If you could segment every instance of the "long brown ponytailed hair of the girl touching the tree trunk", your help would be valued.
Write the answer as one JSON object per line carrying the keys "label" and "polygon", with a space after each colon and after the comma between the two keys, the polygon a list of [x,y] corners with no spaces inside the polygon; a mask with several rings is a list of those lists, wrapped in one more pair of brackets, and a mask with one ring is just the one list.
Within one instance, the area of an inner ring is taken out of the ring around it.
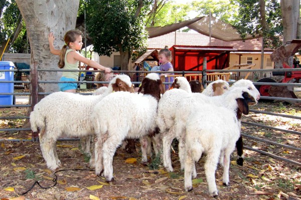
{"label": "long brown ponytailed hair of the girl touching the tree trunk", "polygon": [[82,32],[79,30],[70,30],[64,36],[65,45],[61,49],[60,61],[58,63],[59,68],[63,68],[65,66],[65,54],[67,48],[69,47],[69,43],[75,42],[78,36],[81,36]]}

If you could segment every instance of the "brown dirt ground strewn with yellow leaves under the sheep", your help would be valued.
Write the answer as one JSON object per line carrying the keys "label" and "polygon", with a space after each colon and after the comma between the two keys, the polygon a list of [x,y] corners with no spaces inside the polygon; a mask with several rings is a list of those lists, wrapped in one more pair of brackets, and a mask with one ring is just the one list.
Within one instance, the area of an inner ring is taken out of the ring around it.
{"label": "brown dirt ground strewn with yellow leaves under the sheep", "polygon": [[[300,98],[300,97],[299,97]],[[251,109],[301,116],[299,105],[282,102],[258,103]],[[0,116],[25,115],[26,109],[2,108]],[[250,113],[243,121],[301,132],[300,120]],[[0,127],[22,127],[24,120],[0,120]],[[242,133],[301,148],[299,135],[242,126]],[[0,139],[30,137],[30,132],[0,132]],[[301,162],[300,151],[244,138],[244,145]],[[0,199],[214,199],[207,193],[205,157],[196,164],[198,177],[194,189],[184,190],[184,172],[180,170],[177,147],[172,151],[175,171],[167,172],[157,159],[143,165],[140,146],[133,153],[118,149],[113,161],[115,181],[106,183],[89,168],[88,157],[80,151],[79,141],[57,142],[61,171],[48,170],[38,142],[0,141]],[[301,167],[254,151],[244,150],[243,166],[236,164],[236,151],[230,165],[230,186],[223,186],[223,169],[218,166],[217,199],[300,199]],[[154,168],[155,167],[155,168]],[[158,168],[157,168],[158,167]],[[57,176],[57,184],[53,178]],[[42,187],[36,184],[38,181]],[[29,190],[29,191],[28,191]],[[28,191],[26,194],[22,194]]]}

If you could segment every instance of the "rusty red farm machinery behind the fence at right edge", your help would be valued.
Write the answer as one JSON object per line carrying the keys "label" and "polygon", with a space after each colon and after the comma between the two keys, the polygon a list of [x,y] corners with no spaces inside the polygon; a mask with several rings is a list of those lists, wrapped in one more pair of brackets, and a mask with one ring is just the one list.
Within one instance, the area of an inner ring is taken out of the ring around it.
{"label": "rusty red farm machinery behind the fence at right edge", "polygon": [[[301,47],[301,40],[292,40],[290,44],[277,48],[271,55],[271,60],[274,62],[282,62],[284,69],[292,69],[287,64],[289,57],[293,56]],[[295,63],[296,64],[296,63]],[[298,66],[294,65],[295,67]],[[279,83],[300,83],[301,82],[301,68],[300,71],[286,71],[286,72],[273,72],[273,76],[284,76]],[[272,78],[262,78],[257,82],[263,83],[276,83]],[[283,98],[296,98],[297,96],[287,86],[271,86],[271,85],[256,85],[261,96],[266,97],[283,97]]]}

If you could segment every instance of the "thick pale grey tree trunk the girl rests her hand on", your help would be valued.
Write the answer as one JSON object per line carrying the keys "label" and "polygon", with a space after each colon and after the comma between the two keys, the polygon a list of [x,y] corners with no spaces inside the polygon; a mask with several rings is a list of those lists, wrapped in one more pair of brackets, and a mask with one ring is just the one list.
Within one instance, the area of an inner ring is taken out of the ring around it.
{"label": "thick pale grey tree trunk the girl rests her hand on", "polygon": [[[79,0],[16,0],[26,24],[31,45],[31,69],[59,69],[59,57],[50,53],[48,33],[55,35],[54,46],[61,49],[64,34],[75,28]],[[61,72],[39,72],[40,81],[58,81]],[[36,88],[31,88],[36,89]],[[58,91],[58,84],[39,84],[39,92]]]}

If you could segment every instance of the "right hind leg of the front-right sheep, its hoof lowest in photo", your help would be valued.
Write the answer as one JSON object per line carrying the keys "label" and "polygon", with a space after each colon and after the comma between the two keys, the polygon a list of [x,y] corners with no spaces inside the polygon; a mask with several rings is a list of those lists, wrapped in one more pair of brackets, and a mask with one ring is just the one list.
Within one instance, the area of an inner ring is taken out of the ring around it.
{"label": "right hind leg of the front-right sheep, its hoof lowest in photo", "polygon": [[213,197],[216,197],[218,195],[215,182],[215,171],[217,168],[217,163],[219,161],[220,152],[220,149],[211,149],[210,152],[207,152],[207,160],[204,165],[209,194]]}

